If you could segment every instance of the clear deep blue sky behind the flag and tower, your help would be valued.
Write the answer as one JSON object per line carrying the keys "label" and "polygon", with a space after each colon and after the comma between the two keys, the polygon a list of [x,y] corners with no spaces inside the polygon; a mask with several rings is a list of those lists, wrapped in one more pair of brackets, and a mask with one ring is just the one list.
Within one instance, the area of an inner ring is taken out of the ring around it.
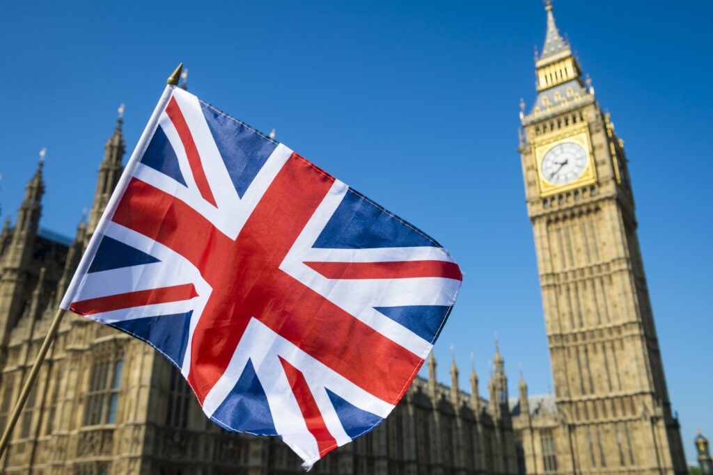
{"label": "clear deep blue sky behind the flag and tower", "polygon": [[[666,376],[689,459],[713,437],[713,41],[708,1],[558,1],[555,17],[626,142]],[[461,387],[493,333],[516,394],[551,385],[518,102],[535,95],[538,0],[6,2],[0,206],[14,214],[47,147],[41,224],[73,235],[126,103],[133,149],[179,61],[190,90],[277,138],[441,242],[465,272],[438,344]],[[128,154],[127,154],[128,157]],[[689,447],[691,446],[691,447]]]}

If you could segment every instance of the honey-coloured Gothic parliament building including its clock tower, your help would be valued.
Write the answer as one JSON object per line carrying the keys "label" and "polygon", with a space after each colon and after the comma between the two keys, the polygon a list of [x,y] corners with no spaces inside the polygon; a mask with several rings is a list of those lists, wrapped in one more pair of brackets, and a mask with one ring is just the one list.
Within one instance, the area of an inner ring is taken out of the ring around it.
{"label": "honey-coloured Gothic parliament building including its clock tower", "polygon": [[[508,395],[496,348],[488,400],[416,378],[373,432],[328,454],[317,474],[684,474],[637,242],[624,143],[560,35],[551,4],[535,58],[537,98],[520,120],[555,392]],[[42,163],[0,233],[0,428],[123,170],[122,118],[106,142],[93,207],[65,239],[40,224]],[[297,474],[275,437],[225,432],[145,343],[87,318],[63,321],[0,473]]]}

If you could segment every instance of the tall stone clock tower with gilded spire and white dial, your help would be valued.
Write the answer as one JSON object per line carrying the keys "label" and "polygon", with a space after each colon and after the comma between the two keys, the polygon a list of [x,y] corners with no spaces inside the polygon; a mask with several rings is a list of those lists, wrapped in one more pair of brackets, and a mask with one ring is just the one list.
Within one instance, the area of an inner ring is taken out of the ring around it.
{"label": "tall stone clock tower with gilded spire and white dial", "polygon": [[558,463],[545,471],[685,474],[624,142],[583,80],[550,2],[545,10],[537,99],[520,113],[559,424]]}

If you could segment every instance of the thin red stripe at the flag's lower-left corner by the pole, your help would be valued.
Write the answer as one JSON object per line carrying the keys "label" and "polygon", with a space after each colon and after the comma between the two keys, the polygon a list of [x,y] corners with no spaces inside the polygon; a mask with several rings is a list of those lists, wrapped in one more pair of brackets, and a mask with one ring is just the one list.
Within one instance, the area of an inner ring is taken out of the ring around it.
{"label": "thin red stripe at the flag's lower-left corner by the pole", "polygon": [[80,315],[111,312],[122,308],[186,301],[197,297],[198,293],[192,283],[181,286],[150,288],[148,291],[117,293],[113,296],[89,298],[85,301],[73,302],[70,310]]}

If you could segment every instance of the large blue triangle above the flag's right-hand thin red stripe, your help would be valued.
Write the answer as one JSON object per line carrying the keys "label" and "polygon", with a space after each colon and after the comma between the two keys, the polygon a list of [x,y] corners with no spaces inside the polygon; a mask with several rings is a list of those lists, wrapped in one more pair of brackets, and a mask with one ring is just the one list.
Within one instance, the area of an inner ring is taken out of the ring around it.
{"label": "large blue triangle above the flag's right-hand thin red stripe", "polygon": [[321,249],[416,246],[438,243],[351,188],[314,241]]}

